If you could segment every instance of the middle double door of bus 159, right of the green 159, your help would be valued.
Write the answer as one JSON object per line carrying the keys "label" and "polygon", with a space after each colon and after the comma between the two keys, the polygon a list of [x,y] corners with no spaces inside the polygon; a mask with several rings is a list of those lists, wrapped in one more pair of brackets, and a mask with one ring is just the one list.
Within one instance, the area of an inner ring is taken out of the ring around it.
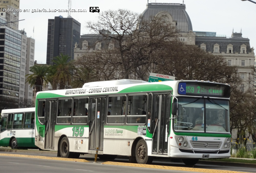
{"label": "middle double door of bus 159, right of the green 159", "polygon": [[91,98],[89,150],[103,150],[105,98]]}

